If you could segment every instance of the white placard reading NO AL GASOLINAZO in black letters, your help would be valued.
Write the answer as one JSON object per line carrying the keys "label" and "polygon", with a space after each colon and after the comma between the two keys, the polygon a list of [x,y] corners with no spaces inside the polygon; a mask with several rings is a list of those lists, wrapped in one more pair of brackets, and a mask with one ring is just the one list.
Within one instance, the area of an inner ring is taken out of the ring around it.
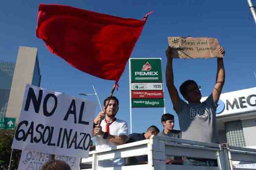
{"label": "white placard reading NO AL GASOLINAZO in black letters", "polygon": [[95,102],[27,84],[13,149],[88,157]]}

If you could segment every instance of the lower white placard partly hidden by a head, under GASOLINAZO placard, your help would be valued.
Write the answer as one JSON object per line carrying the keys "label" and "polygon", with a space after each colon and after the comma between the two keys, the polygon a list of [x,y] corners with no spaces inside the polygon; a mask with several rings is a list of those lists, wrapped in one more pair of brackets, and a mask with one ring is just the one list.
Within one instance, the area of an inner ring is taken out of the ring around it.
{"label": "lower white placard partly hidden by a head, under GASOLINAZO placard", "polygon": [[[40,170],[51,158],[50,154],[23,150],[18,170]],[[80,170],[80,158],[55,155],[55,160],[66,162],[71,170]]]}

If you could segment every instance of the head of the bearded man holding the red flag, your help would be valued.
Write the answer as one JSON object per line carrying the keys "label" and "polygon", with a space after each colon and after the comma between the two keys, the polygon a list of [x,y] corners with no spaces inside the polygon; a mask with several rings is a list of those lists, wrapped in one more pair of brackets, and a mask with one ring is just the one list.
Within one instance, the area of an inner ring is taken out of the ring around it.
{"label": "head of the bearded man holding the red flag", "polygon": [[[108,104],[108,101],[109,101],[109,104]],[[110,118],[114,118],[119,109],[118,105],[119,105],[119,101],[115,96],[106,98],[104,100],[104,108],[106,108],[106,115]]]}

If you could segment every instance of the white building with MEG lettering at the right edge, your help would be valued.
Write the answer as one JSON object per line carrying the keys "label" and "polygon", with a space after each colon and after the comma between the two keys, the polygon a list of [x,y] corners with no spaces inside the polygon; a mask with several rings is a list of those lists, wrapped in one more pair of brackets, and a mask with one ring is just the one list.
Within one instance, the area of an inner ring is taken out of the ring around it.
{"label": "white building with MEG lettering at the right edge", "polygon": [[256,146],[256,87],[221,94],[216,113],[220,143]]}

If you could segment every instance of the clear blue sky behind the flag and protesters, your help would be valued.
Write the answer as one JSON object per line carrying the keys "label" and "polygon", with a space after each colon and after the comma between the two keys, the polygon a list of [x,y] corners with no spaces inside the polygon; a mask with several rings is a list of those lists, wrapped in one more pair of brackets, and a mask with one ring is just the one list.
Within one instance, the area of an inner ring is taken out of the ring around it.
{"label": "clear blue sky behind the flag and protesters", "polygon": [[[226,82],[223,93],[255,87],[253,71],[256,71],[256,26],[246,0],[230,2],[221,0],[3,1],[0,6],[0,60],[15,62],[20,45],[37,47],[42,75],[41,87],[68,95],[78,95],[78,93],[93,93],[92,84],[94,84],[99,98],[103,101],[108,97],[113,81],[90,76],[73,68],[63,59],[51,54],[44,42],[36,37],[39,3],[70,5],[135,19],[142,19],[146,13],[153,10],[154,13],[148,17],[131,57],[162,58],[166,111],[175,115],[175,129],[179,129],[178,118],[172,109],[165,84],[165,49],[168,46],[168,36],[218,38],[226,51],[224,57]],[[187,79],[194,79],[202,86],[202,95],[208,96],[215,83],[216,63],[216,59],[175,59],[176,87],[178,88]],[[128,63],[119,80],[119,86],[119,90],[114,93],[120,100],[117,117],[130,124]],[[96,102],[94,96],[88,99]],[[96,110],[98,113],[99,105]],[[162,108],[132,109],[133,132],[144,132],[150,125],[162,129],[160,122],[162,114]]]}

